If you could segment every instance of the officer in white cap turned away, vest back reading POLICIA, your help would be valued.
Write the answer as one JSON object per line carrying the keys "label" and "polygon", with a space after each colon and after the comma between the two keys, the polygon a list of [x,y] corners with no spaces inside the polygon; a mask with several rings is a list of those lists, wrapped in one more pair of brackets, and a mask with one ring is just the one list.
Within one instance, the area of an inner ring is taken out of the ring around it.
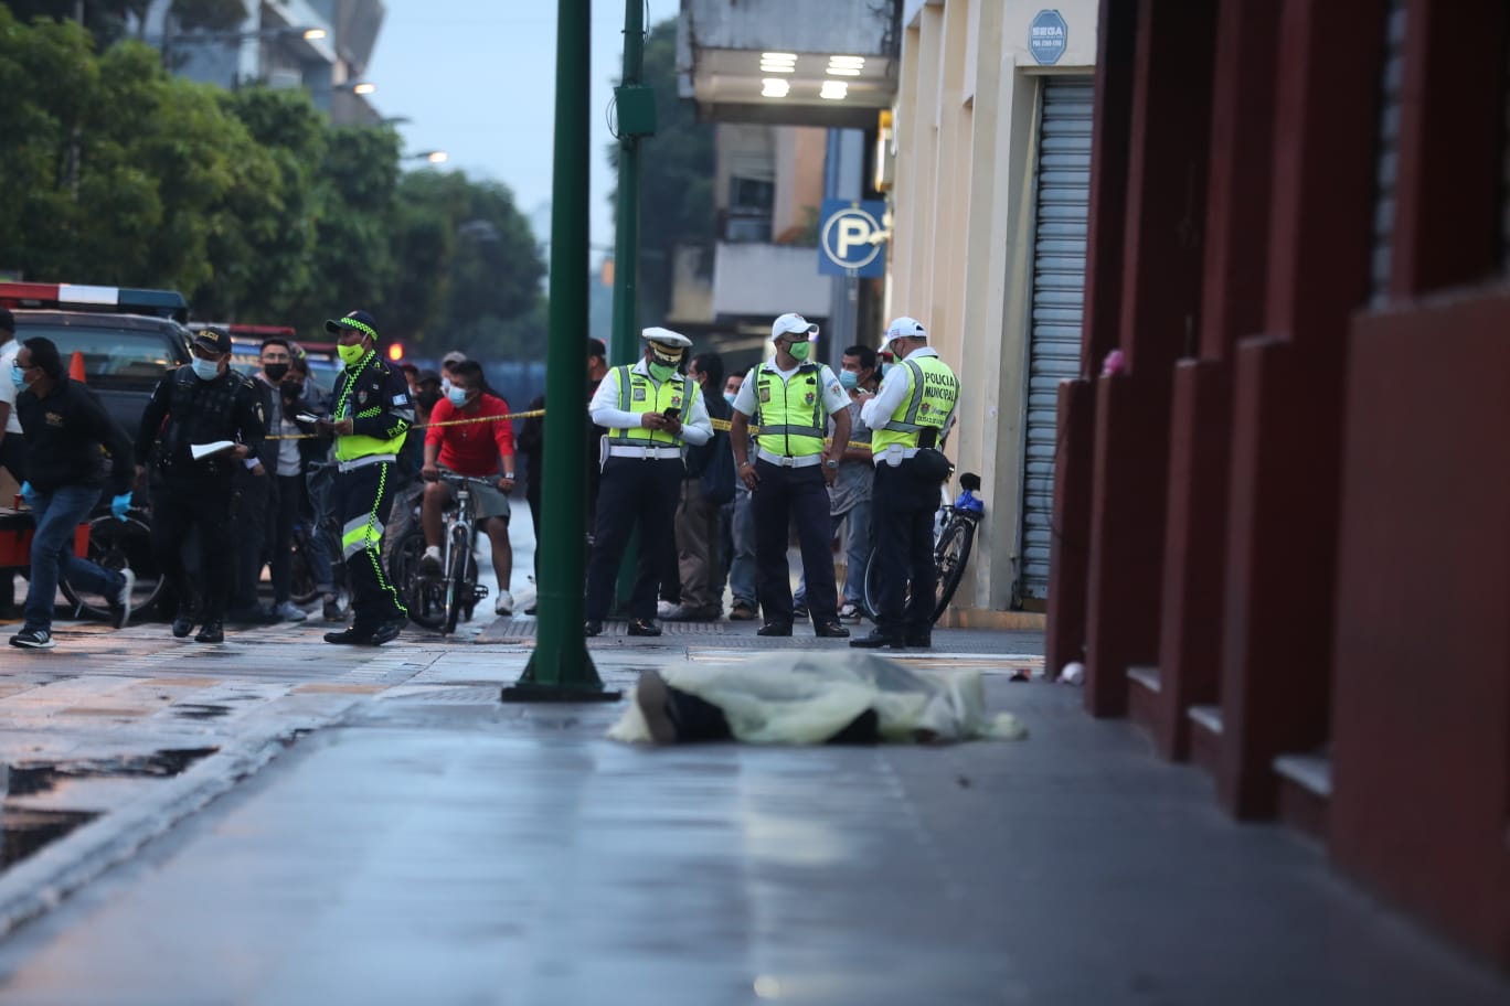
{"label": "officer in white cap turned away, vest back reading POLICIA", "polygon": [[[932,644],[938,572],[933,567],[933,514],[948,462],[938,452],[959,404],[959,379],[929,347],[917,318],[886,329],[880,351],[895,354],[874,398],[859,418],[874,433],[871,537],[880,563],[880,612],[876,629],[850,646],[901,650]],[[911,572],[911,596],[906,594]],[[903,608],[903,599],[906,606]]]}

